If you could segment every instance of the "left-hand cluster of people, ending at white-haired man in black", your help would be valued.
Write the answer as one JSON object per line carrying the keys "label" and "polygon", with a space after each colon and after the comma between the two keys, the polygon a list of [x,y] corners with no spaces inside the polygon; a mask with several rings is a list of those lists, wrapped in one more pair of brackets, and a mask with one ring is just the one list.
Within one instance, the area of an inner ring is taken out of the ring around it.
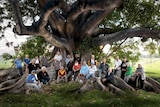
{"label": "left-hand cluster of people, ending at white-haired man in black", "polygon": [[[24,67],[22,66],[22,62],[24,63]],[[18,76],[22,76],[25,71],[28,71],[28,77],[26,79],[26,85],[28,87],[33,87],[38,91],[41,91],[41,85],[48,84],[50,77],[46,71],[48,59],[45,54],[41,57],[41,59],[39,56],[36,56],[32,60],[30,60],[29,55],[26,55],[23,61],[21,56],[18,55],[14,63],[18,71]],[[37,69],[41,69],[40,72],[37,72]]]}

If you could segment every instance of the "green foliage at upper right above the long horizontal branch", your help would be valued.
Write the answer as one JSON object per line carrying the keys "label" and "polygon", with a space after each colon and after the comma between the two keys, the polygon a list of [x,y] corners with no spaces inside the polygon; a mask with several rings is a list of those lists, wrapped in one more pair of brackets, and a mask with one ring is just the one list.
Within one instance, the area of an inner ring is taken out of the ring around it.
{"label": "green foliage at upper right above the long horizontal branch", "polygon": [[107,16],[102,25],[115,31],[133,27],[160,29],[159,9],[154,0],[125,0],[122,9]]}

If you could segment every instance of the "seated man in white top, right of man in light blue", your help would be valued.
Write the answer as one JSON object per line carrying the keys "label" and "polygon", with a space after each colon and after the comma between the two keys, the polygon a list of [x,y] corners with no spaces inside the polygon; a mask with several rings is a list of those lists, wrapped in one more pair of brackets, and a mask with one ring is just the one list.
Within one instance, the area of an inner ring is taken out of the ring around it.
{"label": "seated man in white top, right of man in light blue", "polygon": [[96,65],[94,65],[94,63],[91,63],[91,66],[89,67],[89,74],[86,76],[86,79],[95,77],[96,71],[97,71]]}

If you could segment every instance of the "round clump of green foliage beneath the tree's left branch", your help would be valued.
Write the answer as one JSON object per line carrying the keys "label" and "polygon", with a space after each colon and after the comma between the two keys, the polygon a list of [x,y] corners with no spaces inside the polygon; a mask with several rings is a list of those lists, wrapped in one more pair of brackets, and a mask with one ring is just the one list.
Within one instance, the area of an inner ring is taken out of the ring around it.
{"label": "round clump of green foliage beneath the tree's left branch", "polygon": [[21,55],[24,58],[26,54],[30,56],[30,58],[34,58],[37,55],[42,55],[46,51],[47,43],[42,37],[32,37],[27,40],[20,47]]}

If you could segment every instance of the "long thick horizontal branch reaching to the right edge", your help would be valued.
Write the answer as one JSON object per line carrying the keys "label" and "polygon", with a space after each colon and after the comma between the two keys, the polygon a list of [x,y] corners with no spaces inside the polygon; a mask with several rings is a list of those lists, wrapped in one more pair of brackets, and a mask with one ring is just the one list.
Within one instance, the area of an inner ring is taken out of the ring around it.
{"label": "long thick horizontal branch reaching to the right edge", "polygon": [[146,28],[131,28],[116,33],[107,34],[106,36],[93,38],[93,42],[96,45],[105,45],[123,40],[125,38],[132,37],[160,39],[160,30],[149,30]]}

